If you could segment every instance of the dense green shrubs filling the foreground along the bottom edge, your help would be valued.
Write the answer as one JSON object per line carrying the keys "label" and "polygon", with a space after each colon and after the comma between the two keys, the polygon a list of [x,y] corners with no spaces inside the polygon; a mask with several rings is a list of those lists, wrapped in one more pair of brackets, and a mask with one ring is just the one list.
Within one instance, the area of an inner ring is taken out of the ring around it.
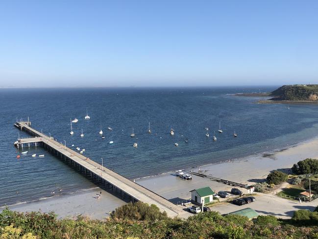
{"label": "dense green shrubs filling the foreground along the bottom edge", "polygon": [[[1,239],[267,239],[318,238],[318,209],[299,210],[292,219],[258,216],[253,220],[241,215],[204,212],[187,219],[168,218],[156,206],[129,204],[111,213],[105,220],[86,217],[57,219],[53,212],[0,213]],[[134,213],[127,211],[134,210]],[[143,212],[150,209],[150,213]],[[147,216],[146,216],[147,214]],[[144,215],[144,216],[142,216]],[[138,219],[137,219],[138,218]]]}

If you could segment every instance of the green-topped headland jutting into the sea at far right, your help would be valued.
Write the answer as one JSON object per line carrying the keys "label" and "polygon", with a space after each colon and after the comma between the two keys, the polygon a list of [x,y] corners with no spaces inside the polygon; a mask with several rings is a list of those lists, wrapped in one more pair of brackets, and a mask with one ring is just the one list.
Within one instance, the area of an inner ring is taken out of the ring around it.
{"label": "green-topped headland jutting into the sea at far right", "polygon": [[271,100],[281,101],[318,101],[318,84],[308,85],[283,85],[272,91],[269,96],[275,96]]}

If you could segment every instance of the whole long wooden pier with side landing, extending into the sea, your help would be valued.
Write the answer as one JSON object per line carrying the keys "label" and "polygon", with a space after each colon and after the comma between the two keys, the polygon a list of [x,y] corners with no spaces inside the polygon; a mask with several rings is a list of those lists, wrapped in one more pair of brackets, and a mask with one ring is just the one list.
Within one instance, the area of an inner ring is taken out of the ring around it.
{"label": "whole long wooden pier with side landing, extending into the sea", "polygon": [[130,196],[131,201],[142,201],[149,205],[154,204],[161,212],[166,211],[172,217],[182,212],[181,207],[171,203],[164,197],[77,153],[66,145],[55,141],[53,137],[31,128],[30,125],[29,121],[16,122],[14,124],[21,131],[33,136],[31,138],[18,139],[15,142],[17,147],[23,148],[25,144],[28,147],[30,144],[42,145],[47,150],[72,163],[80,171],[84,171],[85,174],[89,174],[92,178],[95,177],[98,181],[102,181],[107,187],[112,188],[114,192],[120,192],[122,196],[125,196],[125,194]]}

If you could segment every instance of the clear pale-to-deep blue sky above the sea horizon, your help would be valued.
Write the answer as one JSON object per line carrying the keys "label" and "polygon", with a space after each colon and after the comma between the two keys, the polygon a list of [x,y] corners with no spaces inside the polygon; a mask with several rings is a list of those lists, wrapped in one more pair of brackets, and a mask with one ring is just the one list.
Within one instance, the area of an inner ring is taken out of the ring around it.
{"label": "clear pale-to-deep blue sky above the sea horizon", "polygon": [[0,2],[0,86],[317,80],[318,0]]}

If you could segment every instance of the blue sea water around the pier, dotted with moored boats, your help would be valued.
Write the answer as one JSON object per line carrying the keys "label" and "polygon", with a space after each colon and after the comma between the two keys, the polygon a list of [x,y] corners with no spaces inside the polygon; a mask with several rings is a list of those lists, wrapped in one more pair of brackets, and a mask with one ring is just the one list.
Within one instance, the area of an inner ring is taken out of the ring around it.
{"label": "blue sea water around the pier, dotted with moored boats", "polygon": [[[123,176],[138,178],[270,151],[316,136],[315,105],[288,109],[283,104],[254,104],[257,97],[232,95],[275,88],[0,89],[0,205],[48,197],[59,187],[67,193],[95,186],[42,147],[24,149],[27,155],[16,159],[21,153],[13,146],[18,133],[29,136],[13,127],[17,117],[29,117],[33,128],[60,142],[66,140],[69,147],[85,148],[87,157],[99,163],[103,158],[105,166]],[[84,120],[86,107],[90,120]],[[70,119],[75,117],[79,121],[70,135]],[[222,134],[217,132],[219,122]],[[205,136],[205,127],[210,137]],[[133,147],[135,142],[138,148]],[[32,154],[45,154],[45,158],[32,158]]]}

